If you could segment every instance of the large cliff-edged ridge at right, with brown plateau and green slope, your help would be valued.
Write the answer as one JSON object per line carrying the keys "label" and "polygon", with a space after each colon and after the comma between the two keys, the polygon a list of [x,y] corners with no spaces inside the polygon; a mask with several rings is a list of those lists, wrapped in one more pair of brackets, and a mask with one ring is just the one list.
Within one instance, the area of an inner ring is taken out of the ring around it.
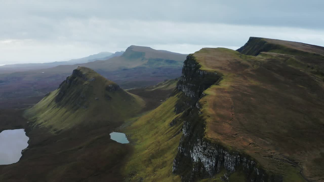
{"label": "large cliff-edged ridge at right, with brown plateau and green slope", "polygon": [[121,130],[136,141],[122,174],[128,181],[323,181],[323,51],[251,37],[238,51],[190,54],[172,97]]}

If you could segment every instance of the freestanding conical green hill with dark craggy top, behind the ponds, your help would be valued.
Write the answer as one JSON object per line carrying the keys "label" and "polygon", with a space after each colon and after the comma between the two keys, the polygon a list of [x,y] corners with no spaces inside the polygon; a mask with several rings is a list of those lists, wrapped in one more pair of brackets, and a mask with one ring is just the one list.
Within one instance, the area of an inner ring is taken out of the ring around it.
{"label": "freestanding conical green hill with dark craggy top, behind the ponds", "polygon": [[78,67],[58,89],[26,111],[35,125],[52,131],[78,124],[114,127],[144,107],[144,101],[92,69]]}

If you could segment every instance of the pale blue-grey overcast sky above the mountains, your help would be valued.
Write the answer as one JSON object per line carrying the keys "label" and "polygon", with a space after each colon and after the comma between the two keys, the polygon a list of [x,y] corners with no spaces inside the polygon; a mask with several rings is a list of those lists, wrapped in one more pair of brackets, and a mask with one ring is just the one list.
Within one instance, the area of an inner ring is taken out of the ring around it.
{"label": "pale blue-grey overcast sky above the mountains", "polygon": [[0,65],[124,51],[237,49],[249,37],[324,46],[323,0],[2,0]]}

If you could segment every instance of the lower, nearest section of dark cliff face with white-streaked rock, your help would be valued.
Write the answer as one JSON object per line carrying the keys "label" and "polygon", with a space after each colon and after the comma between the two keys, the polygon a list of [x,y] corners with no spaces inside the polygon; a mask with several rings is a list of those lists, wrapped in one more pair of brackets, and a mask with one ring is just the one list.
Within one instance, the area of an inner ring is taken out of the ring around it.
{"label": "lower, nearest section of dark cliff face with white-streaked rock", "polygon": [[182,175],[183,181],[213,177],[223,168],[226,169],[227,176],[238,168],[243,169],[248,180],[253,182],[282,181],[281,176],[268,175],[249,156],[229,151],[220,144],[206,140],[203,137],[203,119],[197,117],[198,113],[195,112],[198,112],[198,109],[190,116],[194,119],[184,122],[178,154],[173,161],[172,171]]}

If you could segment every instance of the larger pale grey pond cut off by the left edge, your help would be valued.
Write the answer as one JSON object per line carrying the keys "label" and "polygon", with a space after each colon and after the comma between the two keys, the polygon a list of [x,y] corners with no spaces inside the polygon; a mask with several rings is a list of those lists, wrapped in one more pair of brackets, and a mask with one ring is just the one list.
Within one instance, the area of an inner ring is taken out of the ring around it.
{"label": "larger pale grey pond cut off by the left edge", "polygon": [[24,129],[5,130],[0,133],[0,165],[19,161],[21,151],[28,147]]}

